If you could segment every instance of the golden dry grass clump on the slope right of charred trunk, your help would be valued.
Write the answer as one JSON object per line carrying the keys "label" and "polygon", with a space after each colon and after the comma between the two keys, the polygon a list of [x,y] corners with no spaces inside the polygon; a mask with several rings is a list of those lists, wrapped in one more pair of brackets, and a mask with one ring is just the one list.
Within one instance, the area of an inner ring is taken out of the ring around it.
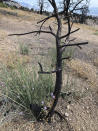
{"label": "golden dry grass clump on the slope right of charred trunk", "polygon": [[96,85],[97,75],[96,69],[93,65],[81,61],[79,59],[73,59],[67,63],[68,67],[73,70],[74,74],[77,74],[79,77],[86,79],[93,86]]}

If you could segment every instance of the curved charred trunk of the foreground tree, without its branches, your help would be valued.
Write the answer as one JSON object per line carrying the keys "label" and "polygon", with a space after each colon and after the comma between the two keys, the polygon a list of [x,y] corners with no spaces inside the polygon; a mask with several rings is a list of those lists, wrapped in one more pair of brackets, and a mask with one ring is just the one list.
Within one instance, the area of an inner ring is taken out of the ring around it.
{"label": "curved charred trunk of the foreground tree, without its branches", "polygon": [[54,113],[54,109],[57,105],[58,99],[59,99],[59,95],[61,92],[61,88],[62,88],[62,53],[61,53],[61,49],[60,44],[61,44],[61,31],[62,31],[62,23],[61,23],[61,18],[59,16],[57,16],[57,23],[58,23],[58,30],[57,30],[57,36],[56,36],[56,51],[57,51],[57,58],[56,58],[56,83],[55,83],[55,90],[54,90],[54,102],[53,105],[47,115],[47,118],[51,118],[53,113]]}

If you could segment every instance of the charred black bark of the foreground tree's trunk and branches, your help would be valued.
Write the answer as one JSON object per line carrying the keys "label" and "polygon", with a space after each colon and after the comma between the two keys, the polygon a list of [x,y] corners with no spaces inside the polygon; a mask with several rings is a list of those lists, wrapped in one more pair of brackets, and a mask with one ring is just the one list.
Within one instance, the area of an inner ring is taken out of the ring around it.
{"label": "charred black bark of the foreground tree's trunk and branches", "polygon": [[[31,32],[22,33],[22,34],[11,34],[11,35],[19,35],[20,36],[20,35],[27,35],[27,34],[31,34],[31,33],[37,33],[37,34],[48,33],[48,34],[51,34],[52,36],[55,37],[56,51],[57,51],[56,70],[51,71],[51,72],[43,71],[42,65],[39,63],[39,66],[40,66],[40,72],[39,73],[43,73],[43,74],[56,73],[56,82],[55,82],[55,90],[54,90],[55,99],[53,101],[52,107],[49,108],[49,112],[48,112],[47,116],[45,116],[45,118],[47,118],[50,121],[51,117],[55,113],[55,107],[56,107],[56,105],[58,103],[59,95],[60,95],[61,88],[62,88],[62,60],[65,59],[65,58],[62,58],[62,53],[63,53],[65,47],[67,47],[67,46],[78,46],[81,49],[80,45],[88,44],[88,42],[70,44],[70,42],[74,41],[74,39],[72,39],[72,40],[69,39],[69,37],[70,37],[70,35],[72,33],[75,33],[76,31],[79,30],[79,28],[78,28],[78,29],[76,29],[74,31],[71,31],[72,26],[73,26],[73,22],[71,24],[70,18],[72,16],[73,11],[76,9],[76,7],[84,0],[76,2],[76,4],[73,5],[74,7],[73,7],[73,9],[71,11],[69,10],[70,9],[70,4],[71,4],[70,0],[63,0],[64,9],[61,12],[58,11],[58,7],[57,7],[57,4],[56,4],[55,0],[48,0],[48,1],[51,4],[51,6],[53,7],[54,11],[53,11],[53,14],[51,16],[48,16],[47,18],[45,18],[45,19],[38,22],[38,23],[42,23],[41,26],[40,26],[39,31],[31,31]],[[41,5],[40,13],[42,13],[42,10],[43,10],[43,5]],[[63,36],[61,36],[62,22],[61,22],[61,17],[60,17],[60,16],[62,16],[62,14],[65,16],[65,18],[67,20],[66,24],[68,26],[67,34],[65,34]],[[55,17],[56,20],[57,20],[57,25],[58,25],[57,33],[54,33],[50,26],[49,26],[49,31],[42,30],[42,27],[45,24],[45,22],[47,20],[49,20],[50,18],[52,18],[52,17]],[[11,35],[9,35],[9,36],[11,36]],[[65,42],[63,43],[63,45],[61,45],[61,40],[62,39],[65,39]],[[35,114],[35,115],[37,115],[37,114]]]}

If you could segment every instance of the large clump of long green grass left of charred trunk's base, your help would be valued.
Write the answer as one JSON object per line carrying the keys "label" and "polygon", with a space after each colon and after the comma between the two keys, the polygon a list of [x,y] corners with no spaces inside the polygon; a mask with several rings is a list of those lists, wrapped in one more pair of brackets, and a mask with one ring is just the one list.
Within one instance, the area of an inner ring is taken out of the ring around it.
{"label": "large clump of long green grass left of charred trunk's base", "polygon": [[[34,70],[34,69],[32,69]],[[2,94],[25,111],[30,111],[30,104],[45,105],[49,103],[53,92],[51,75],[38,75],[29,69],[18,66],[15,70],[3,69],[0,75],[5,88],[1,87]]]}

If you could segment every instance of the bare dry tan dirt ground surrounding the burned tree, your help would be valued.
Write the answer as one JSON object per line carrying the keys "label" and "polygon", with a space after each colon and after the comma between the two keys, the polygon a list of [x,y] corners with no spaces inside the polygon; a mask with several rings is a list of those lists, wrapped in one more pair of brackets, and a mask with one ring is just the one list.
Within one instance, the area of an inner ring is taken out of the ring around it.
{"label": "bare dry tan dirt ground surrounding the burned tree", "polygon": [[[34,57],[45,55],[48,49],[55,47],[54,38],[47,34],[8,36],[12,33],[38,30],[39,26],[36,23],[44,17],[31,12],[0,8],[0,64],[13,66],[16,57],[22,59],[24,63],[32,63]],[[52,20],[48,21],[47,25],[51,23]],[[73,94],[68,99],[59,100],[57,110],[66,116],[74,131],[98,131],[98,35],[94,34],[98,27],[74,24],[74,28],[77,27],[80,30],[72,37],[77,38],[77,41],[88,41],[89,44],[81,50],[76,48],[74,59],[67,63],[69,81],[75,81],[75,86],[70,89]],[[64,28],[66,29],[65,25],[63,30]],[[29,46],[29,56],[15,55],[15,52],[19,51],[20,44]],[[37,64],[36,61],[34,64]],[[66,69],[64,82],[65,79]],[[77,91],[77,94],[74,95],[74,91]],[[67,131],[66,122],[55,118],[51,124],[47,124],[33,122],[23,116],[10,120],[5,116],[4,119],[0,118],[0,131]]]}

